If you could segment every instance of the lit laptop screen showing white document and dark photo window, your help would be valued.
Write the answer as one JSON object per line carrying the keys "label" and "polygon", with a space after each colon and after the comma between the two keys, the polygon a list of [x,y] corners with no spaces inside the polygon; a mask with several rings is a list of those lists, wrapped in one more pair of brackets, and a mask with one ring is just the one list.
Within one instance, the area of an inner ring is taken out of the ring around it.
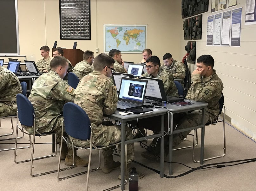
{"label": "lit laptop screen showing white document and dark photo window", "polygon": [[146,88],[145,80],[122,78],[118,99],[143,103]]}

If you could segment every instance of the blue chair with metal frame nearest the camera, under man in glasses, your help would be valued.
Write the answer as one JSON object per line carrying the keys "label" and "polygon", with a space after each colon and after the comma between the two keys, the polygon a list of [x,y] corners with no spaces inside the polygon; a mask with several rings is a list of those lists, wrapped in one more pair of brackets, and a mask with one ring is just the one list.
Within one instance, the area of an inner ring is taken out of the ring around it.
{"label": "blue chair with metal frame nearest the camera, under man in glasses", "polygon": [[[104,148],[111,147],[111,146],[118,145],[118,144],[120,144],[120,142],[115,143],[115,144],[111,144],[109,146],[96,147],[95,145],[93,145],[92,144],[93,134],[92,134],[92,127],[91,127],[89,117],[86,114],[86,112],[80,106],[78,106],[77,104],[74,104],[72,102],[66,103],[63,107],[63,118],[64,119],[63,119],[63,122],[62,122],[62,140],[61,140],[60,152],[62,150],[63,140],[65,140],[67,144],[72,146],[73,156],[74,156],[74,147],[78,148],[78,149],[87,149],[87,150],[89,149],[90,150],[89,164],[88,164],[88,170],[61,178],[60,177],[60,171],[68,170],[68,169],[73,168],[74,164],[75,164],[75,161],[74,161],[74,157],[73,157],[73,166],[60,169],[60,163],[61,163],[61,156],[60,156],[59,157],[57,177],[58,177],[59,180],[63,180],[63,179],[67,179],[67,178],[71,178],[71,177],[74,177],[74,176],[78,176],[78,175],[82,175],[82,174],[87,173],[87,180],[86,180],[86,191],[87,191],[88,190],[88,184],[89,184],[89,173],[92,172],[92,171],[98,170],[100,168],[100,164],[101,164],[100,150],[104,149]],[[63,136],[64,124],[65,124],[65,131],[68,135],[70,135],[71,137],[73,137],[75,139],[87,140],[90,143],[90,146],[88,146],[88,147],[77,147],[73,144],[73,142],[70,143],[67,140],[67,138]],[[90,169],[92,149],[96,149],[99,152],[99,165],[95,169]],[[127,151],[127,145],[125,145],[125,150]],[[125,153],[127,153],[127,152],[125,152]],[[125,154],[125,158],[126,158],[126,161],[127,161],[127,154]],[[127,164],[126,164],[126,175],[127,175]],[[114,186],[112,188],[109,188],[108,190],[112,190],[112,189],[118,188],[120,186],[121,185],[117,185],[117,186]]]}

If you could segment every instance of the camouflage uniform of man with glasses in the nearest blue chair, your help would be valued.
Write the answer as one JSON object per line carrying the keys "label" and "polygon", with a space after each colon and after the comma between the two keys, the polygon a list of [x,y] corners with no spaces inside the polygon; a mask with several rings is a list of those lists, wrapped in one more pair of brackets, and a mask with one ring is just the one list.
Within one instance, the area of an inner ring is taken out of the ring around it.
{"label": "camouflage uniform of man with glasses in the nearest blue chair", "polygon": [[[117,107],[116,89],[111,80],[98,71],[86,75],[77,88],[75,89],[74,103],[81,106],[89,116],[92,133],[93,144],[95,146],[108,146],[120,141],[121,127],[109,126],[102,124],[103,114],[110,115],[115,112]],[[132,131],[130,128],[125,128],[125,140],[132,139]],[[70,137],[78,146],[89,146],[87,140],[79,140]],[[112,149],[103,149],[103,156],[113,153]],[[128,163],[134,158],[134,143],[127,144]]]}

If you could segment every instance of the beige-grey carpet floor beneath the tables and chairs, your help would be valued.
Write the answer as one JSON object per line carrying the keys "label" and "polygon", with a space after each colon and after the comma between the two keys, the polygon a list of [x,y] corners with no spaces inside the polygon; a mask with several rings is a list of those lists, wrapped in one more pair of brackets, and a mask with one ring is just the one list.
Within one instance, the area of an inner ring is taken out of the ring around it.
{"label": "beige-grey carpet floor beneath the tables and chairs", "polygon": [[[10,119],[1,120],[0,135],[10,132]],[[223,136],[222,125],[208,126],[205,132],[205,158],[220,155],[223,153]],[[152,132],[148,132],[152,133]],[[14,137],[14,135],[12,135]],[[9,136],[11,137],[11,135]],[[199,130],[200,137],[200,130]],[[3,137],[0,137],[0,140]],[[182,146],[188,146],[192,144],[193,137],[188,136],[186,141],[181,143]],[[19,142],[27,142],[28,136],[20,139]],[[50,142],[51,136],[43,138],[36,137],[36,143]],[[10,141],[0,141],[0,149],[14,147]],[[4,143],[4,144],[3,144]],[[146,143],[146,141],[144,141]],[[149,144],[150,141],[147,143]],[[205,164],[227,162],[233,160],[241,160],[248,158],[256,158],[256,142],[238,130],[233,128],[229,123],[226,123],[226,156],[218,159],[206,161]],[[143,163],[148,167],[156,170],[160,169],[159,162],[148,161],[141,157],[141,152],[145,151],[141,148],[139,143],[135,143],[135,161]],[[51,144],[37,144],[35,146],[35,157],[39,155],[45,155],[51,153]],[[197,158],[200,154],[200,139],[199,146],[196,147]],[[30,149],[17,150],[17,160],[29,159],[31,155]],[[82,158],[88,159],[88,151],[78,151],[78,155]],[[36,160],[33,163],[33,172],[40,173],[47,170],[57,169],[58,156],[52,158],[46,158]],[[43,176],[31,177],[30,176],[30,162],[16,164],[13,161],[14,151],[0,152],[1,161],[1,174],[0,174],[0,190],[83,190],[85,189],[86,174],[59,181],[57,179],[57,173],[52,173]],[[97,151],[92,155],[92,168],[97,165]],[[103,166],[103,157],[101,165]],[[120,160],[119,156],[114,156],[115,160]],[[174,152],[174,162],[185,164],[191,168],[200,167],[202,165],[193,163],[192,161],[192,148],[183,149]],[[173,176],[178,176],[190,168],[182,164],[173,164]],[[235,163],[232,163],[235,164]],[[226,164],[230,165],[230,164]],[[102,168],[101,166],[101,168]],[[185,176],[177,178],[160,178],[160,175],[156,172],[142,167],[139,164],[132,163],[132,166],[137,170],[145,173],[144,178],[139,180],[139,190],[179,190],[179,191],[215,191],[215,190],[255,190],[256,185],[256,163],[246,163],[234,166],[226,166],[224,168],[207,168],[202,170],[196,170]],[[213,165],[216,166],[216,165]],[[62,161],[61,167],[65,167],[64,161]],[[69,171],[61,172],[61,176],[68,175],[72,172],[79,172],[86,170],[86,168],[75,167]],[[165,172],[168,175],[167,163],[165,163]],[[104,174],[101,170],[90,173],[89,178],[89,190],[104,190],[120,183],[118,180],[119,170],[113,170],[109,174]],[[117,188],[115,190],[120,190]],[[128,184],[125,186],[125,190],[128,190]]]}

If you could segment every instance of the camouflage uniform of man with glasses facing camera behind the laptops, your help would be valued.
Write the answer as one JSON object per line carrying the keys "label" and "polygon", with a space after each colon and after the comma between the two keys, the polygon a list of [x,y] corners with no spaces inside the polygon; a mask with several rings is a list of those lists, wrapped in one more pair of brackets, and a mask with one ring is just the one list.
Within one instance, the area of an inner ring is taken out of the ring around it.
{"label": "camouflage uniform of man with glasses facing camera behind the laptops", "polygon": [[149,77],[149,78],[162,79],[166,95],[179,97],[177,87],[175,86],[173,81],[173,75],[169,71],[159,68],[158,75],[156,77],[154,77],[152,74],[148,74],[148,72],[146,72],[142,76]]}

